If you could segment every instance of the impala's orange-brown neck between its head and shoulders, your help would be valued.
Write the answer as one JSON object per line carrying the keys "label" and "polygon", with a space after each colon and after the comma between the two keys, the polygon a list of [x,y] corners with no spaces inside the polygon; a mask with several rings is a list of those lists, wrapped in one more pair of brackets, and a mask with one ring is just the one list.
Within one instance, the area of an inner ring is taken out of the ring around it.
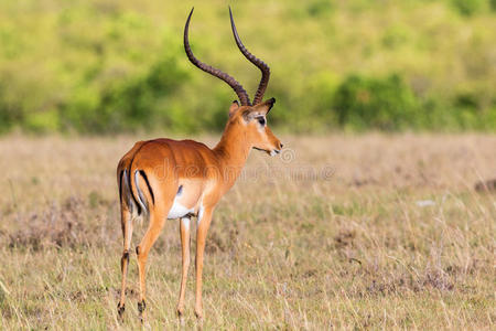
{"label": "impala's orange-brown neck between its head and shoulders", "polygon": [[245,167],[251,145],[247,143],[246,135],[235,126],[228,126],[214,148],[220,161],[226,184],[233,185]]}

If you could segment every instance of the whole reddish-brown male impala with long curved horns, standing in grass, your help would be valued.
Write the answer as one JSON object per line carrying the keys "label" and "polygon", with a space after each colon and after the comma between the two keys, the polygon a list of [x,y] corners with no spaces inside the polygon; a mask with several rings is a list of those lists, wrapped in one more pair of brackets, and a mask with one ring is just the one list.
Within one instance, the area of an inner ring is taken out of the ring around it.
{"label": "whole reddish-brown male impala with long curved horns, standing in grass", "polygon": [[126,276],[129,264],[133,220],[147,217],[148,229],[136,247],[140,277],[140,301],[138,310],[144,318],[145,264],[153,243],[165,220],[181,218],[182,278],[177,302],[177,314],[184,312],[184,295],[190,266],[190,218],[197,217],[196,229],[196,301],[195,314],[203,319],[202,269],[205,238],[212,214],[219,199],[233,186],[252,148],[274,156],[282,143],[267,127],[266,115],[274,104],[271,98],[262,102],[269,83],[270,68],[255,57],[242,45],[229,9],[233,34],[241,53],[262,73],[254,103],[242,86],[231,76],[201,61],[192,53],[188,43],[188,26],[193,9],[184,28],[184,49],[190,61],[198,68],[226,82],[237,94],[241,105],[234,102],[229,108],[220,141],[214,149],[193,140],[154,139],[137,142],[119,161],[119,183],[123,253],[121,258],[122,288],[118,305],[125,311]]}

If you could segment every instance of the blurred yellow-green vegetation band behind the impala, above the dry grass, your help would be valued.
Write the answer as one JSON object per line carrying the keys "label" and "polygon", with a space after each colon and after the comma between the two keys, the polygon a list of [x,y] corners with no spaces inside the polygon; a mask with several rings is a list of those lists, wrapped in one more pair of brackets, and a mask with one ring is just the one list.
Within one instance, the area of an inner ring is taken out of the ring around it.
{"label": "blurred yellow-green vegetation band behind the impala, above the dry grass", "polygon": [[291,132],[496,131],[496,0],[0,2],[0,132],[219,131],[270,64],[270,121]]}

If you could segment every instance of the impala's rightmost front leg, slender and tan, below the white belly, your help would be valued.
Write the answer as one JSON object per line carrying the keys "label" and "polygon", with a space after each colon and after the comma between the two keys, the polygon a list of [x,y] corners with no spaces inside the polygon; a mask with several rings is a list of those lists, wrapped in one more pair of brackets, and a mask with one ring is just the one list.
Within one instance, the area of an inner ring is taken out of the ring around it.
{"label": "impala's rightmost front leg, slender and tan, below the white belly", "polygon": [[205,239],[212,221],[213,209],[205,209],[202,216],[198,217],[198,226],[196,229],[196,300],[195,314],[200,322],[203,321],[202,307],[202,271],[203,271],[203,253],[205,250]]}

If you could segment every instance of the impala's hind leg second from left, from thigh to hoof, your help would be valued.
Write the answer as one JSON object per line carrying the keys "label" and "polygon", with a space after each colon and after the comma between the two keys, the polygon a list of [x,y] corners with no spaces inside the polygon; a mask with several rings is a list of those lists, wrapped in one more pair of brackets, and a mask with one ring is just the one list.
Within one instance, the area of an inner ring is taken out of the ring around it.
{"label": "impala's hind leg second from left, from thigh to hoof", "polygon": [[[166,209],[169,211],[169,207]],[[157,238],[162,231],[162,227],[165,223],[166,213],[162,211],[151,211],[150,212],[150,221],[147,233],[144,234],[141,243],[136,247],[136,254],[138,256],[138,271],[140,276],[140,301],[138,302],[138,311],[140,313],[140,320],[144,321],[145,313],[144,309],[147,308],[145,303],[145,266],[148,254],[150,253],[151,247],[155,243]]]}

